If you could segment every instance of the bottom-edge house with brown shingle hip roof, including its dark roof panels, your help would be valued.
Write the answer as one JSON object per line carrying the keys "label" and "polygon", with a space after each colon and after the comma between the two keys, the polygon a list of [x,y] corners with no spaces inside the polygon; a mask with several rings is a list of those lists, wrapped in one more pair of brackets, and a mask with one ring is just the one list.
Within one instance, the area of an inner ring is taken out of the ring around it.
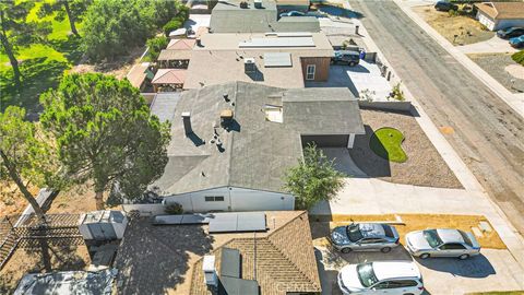
{"label": "bottom-edge house with brown shingle hip roof, including its dark roof panels", "polygon": [[[255,238],[231,235],[230,240],[211,252],[221,281],[218,290],[229,287],[223,294],[242,294],[235,293],[240,285],[254,285],[250,295],[320,294],[308,213],[297,213],[272,233],[257,234]],[[193,266],[190,295],[214,294],[204,283],[203,260]]]}

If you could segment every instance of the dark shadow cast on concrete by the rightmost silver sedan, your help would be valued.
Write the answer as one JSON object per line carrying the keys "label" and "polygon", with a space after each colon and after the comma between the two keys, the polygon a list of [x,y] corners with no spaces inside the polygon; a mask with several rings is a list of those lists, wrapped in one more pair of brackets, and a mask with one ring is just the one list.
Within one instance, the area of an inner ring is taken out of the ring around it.
{"label": "dark shadow cast on concrete by the rightmost silver sedan", "polygon": [[417,259],[417,261],[428,269],[449,272],[456,276],[480,279],[497,273],[491,262],[481,253],[466,260],[456,258],[431,258]]}

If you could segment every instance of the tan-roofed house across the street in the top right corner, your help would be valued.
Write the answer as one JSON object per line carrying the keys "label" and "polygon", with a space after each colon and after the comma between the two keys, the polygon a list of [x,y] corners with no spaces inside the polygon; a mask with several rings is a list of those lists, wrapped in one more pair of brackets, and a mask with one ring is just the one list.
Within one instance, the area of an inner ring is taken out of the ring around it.
{"label": "tan-roofed house across the street in the top right corner", "polygon": [[476,3],[477,20],[491,31],[524,26],[524,2]]}

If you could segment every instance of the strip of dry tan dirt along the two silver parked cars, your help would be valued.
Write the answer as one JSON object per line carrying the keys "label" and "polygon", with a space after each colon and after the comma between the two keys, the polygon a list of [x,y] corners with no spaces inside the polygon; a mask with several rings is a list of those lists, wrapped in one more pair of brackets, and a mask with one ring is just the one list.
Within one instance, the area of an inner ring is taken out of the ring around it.
{"label": "strip of dry tan dirt along the two silver parked cars", "polygon": [[[395,225],[401,236],[401,243],[404,243],[404,237],[407,233],[413,231],[420,231],[427,228],[458,228],[465,232],[472,232],[472,227],[478,227],[479,222],[488,222],[481,215],[451,215],[451,214],[397,214],[405,225]],[[312,216],[311,233],[313,235],[313,244],[317,246],[327,246],[326,236],[331,228],[341,225],[347,225],[352,222],[393,222],[396,221],[395,215],[334,215],[333,221],[325,221]],[[489,223],[489,222],[488,222]],[[490,249],[507,249],[502,239],[500,239],[497,232],[483,233],[483,237],[477,237],[478,243],[484,248]]]}

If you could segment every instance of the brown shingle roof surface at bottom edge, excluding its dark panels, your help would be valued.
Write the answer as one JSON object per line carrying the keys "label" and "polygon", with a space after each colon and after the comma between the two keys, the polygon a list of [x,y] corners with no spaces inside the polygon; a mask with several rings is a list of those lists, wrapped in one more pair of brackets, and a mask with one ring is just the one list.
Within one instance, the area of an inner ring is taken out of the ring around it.
{"label": "brown shingle roof surface at bottom edge, excluding its dark panels", "polygon": [[[255,280],[261,294],[287,294],[291,292],[320,293],[320,279],[314,258],[311,231],[307,212],[297,215],[274,229],[273,233],[257,238],[257,259],[254,259],[254,240],[252,237],[233,238],[212,253],[221,273],[222,249],[238,249],[241,255],[242,279]],[[271,223],[270,223],[271,226]],[[293,243],[289,243],[293,240]],[[202,272],[202,258],[193,266],[190,294],[212,294]]]}

